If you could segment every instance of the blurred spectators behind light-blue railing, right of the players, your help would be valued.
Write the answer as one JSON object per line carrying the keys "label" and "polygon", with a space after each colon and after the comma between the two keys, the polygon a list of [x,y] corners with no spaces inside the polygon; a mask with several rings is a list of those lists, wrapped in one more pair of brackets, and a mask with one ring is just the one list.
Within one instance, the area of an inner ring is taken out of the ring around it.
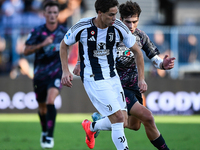
{"label": "blurred spectators behind light-blue railing, right of the players", "polygon": [[155,69],[151,61],[144,57],[148,76],[185,79],[200,76],[200,28],[199,26],[143,26],[151,41],[165,55],[175,57],[172,70]]}

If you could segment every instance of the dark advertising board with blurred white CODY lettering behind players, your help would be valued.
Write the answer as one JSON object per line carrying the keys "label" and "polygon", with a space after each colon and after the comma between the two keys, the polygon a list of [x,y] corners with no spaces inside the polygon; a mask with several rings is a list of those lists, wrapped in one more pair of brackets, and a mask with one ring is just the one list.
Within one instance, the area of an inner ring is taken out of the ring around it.
{"label": "dark advertising board with blurred white CODY lettering behind players", "polygon": [[[173,80],[151,78],[146,80],[144,94],[146,107],[154,114],[192,115],[200,113],[199,79]],[[37,102],[32,80],[21,76],[14,80],[0,77],[0,113],[36,113]],[[90,102],[80,78],[74,78],[73,87],[63,87],[55,106],[60,113],[91,113],[96,111]]]}

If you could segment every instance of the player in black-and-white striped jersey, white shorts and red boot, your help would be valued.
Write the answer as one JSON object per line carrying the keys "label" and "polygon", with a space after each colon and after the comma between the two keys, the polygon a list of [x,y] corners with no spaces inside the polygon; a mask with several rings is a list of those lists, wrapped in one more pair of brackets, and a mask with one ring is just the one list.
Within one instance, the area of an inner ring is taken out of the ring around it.
{"label": "player in black-and-white striped jersey, white shorts and red boot", "polygon": [[60,44],[63,70],[61,83],[72,87],[73,75],[68,68],[67,50],[69,45],[79,41],[80,76],[84,88],[95,108],[102,115],[108,116],[104,123],[91,123],[89,120],[82,122],[86,132],[86,143],[92,149],[95,145],[95,130],[111,128],[116,148],[128,150],[124,134],[124,126],[127,126],[127,106],[115,64],[117,45],[123,41],[133,52],[141,93],[147,90],[143,54],[135,36],[124,23],[116,19],[117,0],[96,0],[95,9],[97,16],[81,19],[68,30]]}

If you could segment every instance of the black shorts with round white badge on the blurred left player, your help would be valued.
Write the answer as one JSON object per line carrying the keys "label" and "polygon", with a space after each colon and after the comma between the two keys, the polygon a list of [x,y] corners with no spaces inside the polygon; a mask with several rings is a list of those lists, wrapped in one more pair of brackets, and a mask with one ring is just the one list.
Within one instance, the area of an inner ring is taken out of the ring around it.
{"label": "black shorts with round white badge on the blurred left player", "polygon": [[47,80],[34,80],[33,81],[34,86],[34,92],[36,95],[36,100],[39,103],[46,102],[47,98],[47,91],[51,87],[55,87],[58,90],[61,89],[62,85],[60,82],[60,76],[57,76],[55,78],[47,79]]}

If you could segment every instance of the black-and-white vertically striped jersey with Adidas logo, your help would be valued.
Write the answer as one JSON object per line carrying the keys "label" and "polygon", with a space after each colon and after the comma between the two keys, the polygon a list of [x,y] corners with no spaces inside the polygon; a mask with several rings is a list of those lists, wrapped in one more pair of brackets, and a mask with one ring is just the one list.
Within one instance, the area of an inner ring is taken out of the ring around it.
{"label": "black-and-white vertically striped jersey with Adidas logo", "polygon": [[97,81],[114,77],[117,74],[115,60],[117,44],[121,41],[132,47],[136,38],[120,20],[105,29],[93,24],[94,18],[84,18],[72,26],[64,37],[67,45],[79,41],[82,81]]}

